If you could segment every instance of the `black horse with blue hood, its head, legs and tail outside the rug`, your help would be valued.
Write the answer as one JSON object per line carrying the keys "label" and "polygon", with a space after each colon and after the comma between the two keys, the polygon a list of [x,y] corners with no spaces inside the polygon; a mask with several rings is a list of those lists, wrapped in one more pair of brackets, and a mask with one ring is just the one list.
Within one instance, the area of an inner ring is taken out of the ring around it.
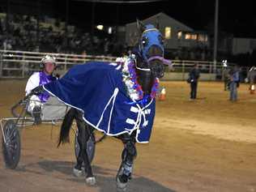
{"label": "black horse with blue hood, its head, legs and tail outside the rug", "polygon": [[[138,20],[137,28],[140,34],[139,43],[133,51],[134,55],[130,57],[133,57],[131,60],[135,63],[135,80],[137,80],[142,88],[142,90],[140,90],[142,92],[140,96],[142,97],[131,100],[131,103],[135,103],[143,108],[143,106],[147,105],[150,100],[154,100],[154,96],[152,96],[154,90],[152,87],[155,86],[156,79],[164,76],[164,43],[163,37],[157,27],[154,27],[151,24],[144,25]],[[102,80],[104,81],[104,79]],[[80,151],[77,157],[74,173],[77,176],[81,175],[82,164],[84,163],[86,169],[86,182],[89,185],[94,185],[96,183],[96,178],[92,173],[92,167],[88,159],[86,147],[87,141],[96,127],[89,125],[84,120],[85,116],[86,114],[84,114],[82,110],[75,107],[71,108],[69,112],[66,113],[62,122],[58,145],[65,143],[68,140],[70,127],[73,120],[75,120],[78,126],[78,143]],[[141,118],[143,118],[142,116],[143,115],[141,115]],[[137,156],[135,143],[137,143],[136,137],[138,137],[138,132],[139,128],[137,127],[129,133],[125,132],[112,135],[117,139],[121,139],[124,144],[122,163],[116,177],[117,189],[119,190],[126,190],[127,183],[131,179],[134,158]]]}

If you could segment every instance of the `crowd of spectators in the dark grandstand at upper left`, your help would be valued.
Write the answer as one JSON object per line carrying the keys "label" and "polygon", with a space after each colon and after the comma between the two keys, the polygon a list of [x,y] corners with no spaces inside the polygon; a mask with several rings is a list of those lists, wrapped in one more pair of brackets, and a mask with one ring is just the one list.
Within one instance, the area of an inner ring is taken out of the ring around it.
{"label": "crowd of spectators in the dark grandstand at upper left", "polygon": [[33,16],[10,15],[8,20],[0,19],[0,49],[90,55],[118,55],[126,49],[117,45],[115,36],[92,36],[74,26],[66,28],[58,19],[44,19],[38,26]]}

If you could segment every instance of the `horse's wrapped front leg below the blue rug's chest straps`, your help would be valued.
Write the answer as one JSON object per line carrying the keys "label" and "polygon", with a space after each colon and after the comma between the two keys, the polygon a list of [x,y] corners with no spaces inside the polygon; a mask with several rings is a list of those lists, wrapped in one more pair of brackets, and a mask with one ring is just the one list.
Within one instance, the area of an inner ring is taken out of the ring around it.
{"label": "horse's wrapped front leg below the blue rug's chest straps", "polygon": [[125,191],[128,181],[131,179],[134,159],[137,156],[134,136],[130,134],[122,134],[118,136],[124,143],[122,151],[122,164],[117,172],[117,189]]}

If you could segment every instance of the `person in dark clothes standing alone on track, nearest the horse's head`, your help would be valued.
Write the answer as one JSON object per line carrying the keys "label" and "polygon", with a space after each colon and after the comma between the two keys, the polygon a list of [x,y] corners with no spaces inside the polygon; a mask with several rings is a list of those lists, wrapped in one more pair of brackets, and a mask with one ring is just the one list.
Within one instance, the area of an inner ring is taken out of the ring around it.
{"label": "person in dark clothes standing alone on track, nearest the horse's head", "polygon": [[190,99],[195,100],[197,95],[198,88],[198,79],[200,77],[200,71],[198,69],[198,65],[194,64],[194,67],[190,70],[188,83],[190,83]]}

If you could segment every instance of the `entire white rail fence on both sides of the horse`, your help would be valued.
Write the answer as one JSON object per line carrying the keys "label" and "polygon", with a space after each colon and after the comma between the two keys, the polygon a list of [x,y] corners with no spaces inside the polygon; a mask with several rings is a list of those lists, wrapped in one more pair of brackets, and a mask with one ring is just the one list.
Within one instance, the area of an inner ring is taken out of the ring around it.
{"label": "entire white rail fence on both sides of the horse", "polygon": [[[57,73],[63,74],[71,66],[89,61],[113,62],[115,57],[92,56],[66,53],[37,53],[26,51],[0,50],[0,78],[28,78],[34,71],[40,70],[39,63],[46,54],[53,55],[57,59]],[[181,73],[185,79],[185,74],[189,72],[194,64],[198,64],[201,73],[220,75],[223,74],[223,65],[221,62],[216,64],[214,71],[213,62],[203,61],[182,61],[173,60],[174,70],[172,72]],[[229,64],[231,65],[231,64]],[[169,70],[168,68],[166,70]]]}

